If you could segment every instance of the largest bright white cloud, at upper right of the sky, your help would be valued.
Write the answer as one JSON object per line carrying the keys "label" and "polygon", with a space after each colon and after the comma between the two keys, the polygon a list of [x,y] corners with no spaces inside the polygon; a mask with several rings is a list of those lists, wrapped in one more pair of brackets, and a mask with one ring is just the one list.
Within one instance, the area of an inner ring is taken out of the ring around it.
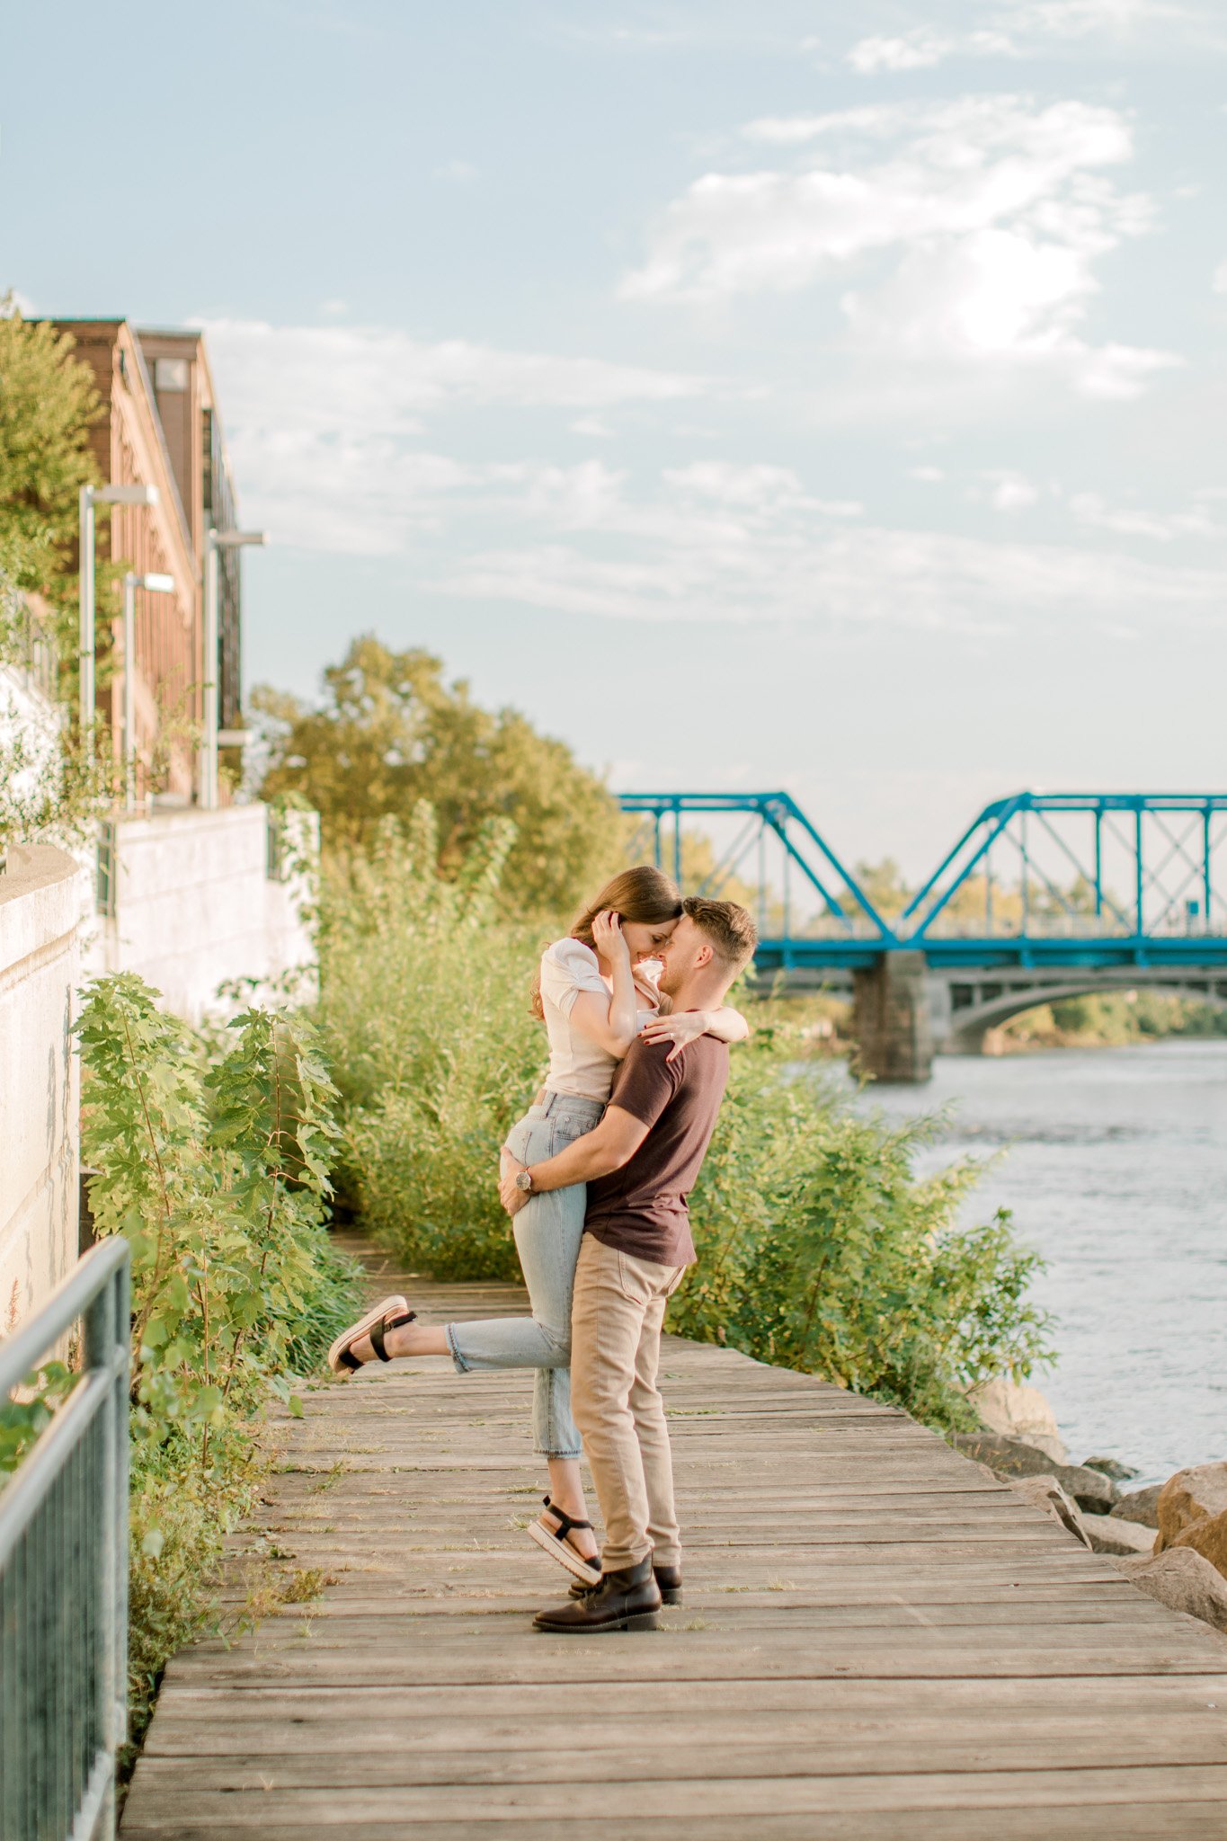
{"label": "largest bright white cloud, at upper right of the sky", "polygon": [[659,221],[627,298],[789,293],[855,269],[865,285],[844,289],[843,309],[861,350],[1041,365],[1089,396],[1139,394],[1179,363],[1076,331],[1095,263],[1153,215],[1107,177],[1133,153],[1120,110],[966,96],[760,118],[743,136],[811,151],[697,179]]}

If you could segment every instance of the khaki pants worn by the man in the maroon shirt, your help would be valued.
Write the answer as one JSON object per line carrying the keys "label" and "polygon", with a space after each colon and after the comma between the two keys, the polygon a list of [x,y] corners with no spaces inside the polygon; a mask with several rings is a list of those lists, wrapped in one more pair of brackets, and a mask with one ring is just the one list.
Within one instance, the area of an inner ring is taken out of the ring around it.
{"label": "khaki pants worn by the man in the maroon shirt", "polygon": [[570,1313],[570,1405],[605,1517],[602,1567],[681,1565],[673,1458],[657,1392],[660,1322],[684,1267],[583,1235]]}

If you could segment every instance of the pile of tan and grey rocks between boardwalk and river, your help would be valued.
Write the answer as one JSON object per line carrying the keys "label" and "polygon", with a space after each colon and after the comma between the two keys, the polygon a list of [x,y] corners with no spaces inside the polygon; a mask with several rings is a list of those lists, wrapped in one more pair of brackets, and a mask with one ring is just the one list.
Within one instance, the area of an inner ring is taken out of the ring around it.
{"label": "pile of tan and grey rocks between boardwalk and river", "polygon": [[1141,1591],[1227,1631],[1227,1464],[1175,1471],[1164,1484],[1122,1489],[1117,1458],[1069,1462],[1052,1408],[1038,1388],[992,1381],[971,1395],[982,1430],[951,1443],[1106,1554]]}

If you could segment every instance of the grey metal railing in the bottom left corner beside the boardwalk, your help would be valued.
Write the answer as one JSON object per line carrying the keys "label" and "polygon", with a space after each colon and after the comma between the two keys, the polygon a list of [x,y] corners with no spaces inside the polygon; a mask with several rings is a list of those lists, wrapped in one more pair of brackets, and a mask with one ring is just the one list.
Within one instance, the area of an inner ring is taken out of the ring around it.
{"label": "grey metal railing in the bottom left corner beside the boardwalk", "polygon": [[6,1395],[85,1327],[83,1373],[0,1489],[0,1834],[110,1841],[127,1736],[129,1246],[0,1344]]}

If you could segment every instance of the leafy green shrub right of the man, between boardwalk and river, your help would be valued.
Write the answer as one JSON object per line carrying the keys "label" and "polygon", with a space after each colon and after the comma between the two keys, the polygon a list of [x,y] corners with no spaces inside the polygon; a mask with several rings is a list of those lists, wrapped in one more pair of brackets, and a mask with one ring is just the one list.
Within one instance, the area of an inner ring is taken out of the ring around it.
{"label": "leafy green shrub right of the man, between boardwalk and river", "polygon": [[760,1027],[692,1195],[699,1265],[670,1327],[894,1401],[929,1425],[975,1423],[964,1390],[1045,1359],[1026,1302],[1039,1259],[1004,1213],[955,1228],[977,1178],[912,1175],[927,1127],[890,1129],[797,1068],[795,1024]]}

